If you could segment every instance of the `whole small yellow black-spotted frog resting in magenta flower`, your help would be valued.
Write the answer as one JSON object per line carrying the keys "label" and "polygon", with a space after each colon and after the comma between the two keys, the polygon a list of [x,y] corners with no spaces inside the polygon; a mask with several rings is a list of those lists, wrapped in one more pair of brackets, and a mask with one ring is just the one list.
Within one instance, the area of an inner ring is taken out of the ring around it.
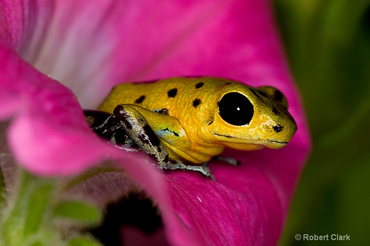
{"label": "whole small yellow black-spotted frog resting in magenta flower", "polygon": [[278,89],[206,76],[119,84],[98,111],[85,116],[116,147],[136,147],[160,169],[192,170],[211,179],[207,163],[225,148],[280,149],[297,131]]}

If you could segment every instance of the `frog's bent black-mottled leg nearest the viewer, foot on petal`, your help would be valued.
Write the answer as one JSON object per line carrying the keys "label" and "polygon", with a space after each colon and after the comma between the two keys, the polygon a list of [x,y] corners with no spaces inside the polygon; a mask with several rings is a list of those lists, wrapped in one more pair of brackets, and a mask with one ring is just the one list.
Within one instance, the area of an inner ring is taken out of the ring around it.
{"label": "frog's bent black-mottled leg nearest the viewer, foot on petal", "polygon": [[[140,111],[140,112],[139,112]],[[198,165],[185,165],[180,160],[168,156],[168,151],[154,130],[150,127],[143,114],[150,114],[159,122],[173,122],[174,118],[156,113],[133,104],[120,104],[116,106],[113,115],[120,121],[122,128],[131,137],[135,144],[146,154],[157,159],[161,169],[186,169],[200,172],[202,175],[213,179],[210,170]],[[172,123],[173,124],[173,123]]]}

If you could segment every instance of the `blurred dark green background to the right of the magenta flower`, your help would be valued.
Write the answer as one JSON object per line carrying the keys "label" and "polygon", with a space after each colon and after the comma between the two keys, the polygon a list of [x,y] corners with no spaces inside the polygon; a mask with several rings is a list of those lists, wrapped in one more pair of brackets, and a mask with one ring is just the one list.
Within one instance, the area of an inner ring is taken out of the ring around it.
{"label": "blurred dark green background to the right of the magenta flower", "polygon": [[369,245],[370,0],[274,2],[314,147],[280,245]]}

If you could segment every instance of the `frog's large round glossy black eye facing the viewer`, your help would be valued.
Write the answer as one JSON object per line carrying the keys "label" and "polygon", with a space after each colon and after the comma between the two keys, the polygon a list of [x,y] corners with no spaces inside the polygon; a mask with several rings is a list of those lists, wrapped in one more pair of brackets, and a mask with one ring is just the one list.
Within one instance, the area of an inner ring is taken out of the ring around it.
{"label": "frog's large round glossy black eye facing the viewer", "polygon": [[218,102],[221,118],[229,124],[248,124],[253,117],[253,105],[248,98],[238,92],[225,94]]}

